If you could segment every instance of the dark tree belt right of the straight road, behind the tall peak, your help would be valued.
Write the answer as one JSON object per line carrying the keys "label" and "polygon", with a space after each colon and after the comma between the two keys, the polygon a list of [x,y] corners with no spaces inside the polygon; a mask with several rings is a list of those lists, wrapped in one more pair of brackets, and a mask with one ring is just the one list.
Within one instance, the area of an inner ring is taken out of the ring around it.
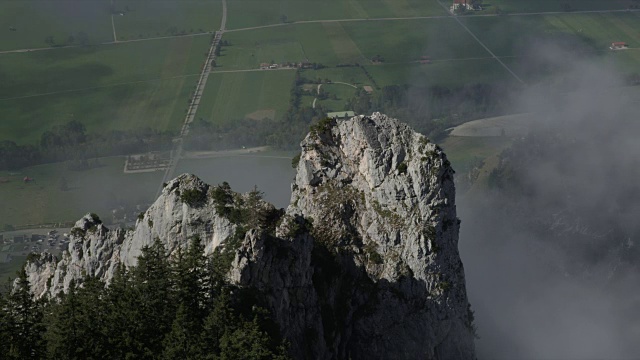
{"label": "dark tree belt right of the straight road, behind the tall peak", "polygon": [[[280,119],[244,118],[217,123],[200,118],[192,124],[194,131],[189,135],[185,148],[219,150],[269,145],[282,150],[297,150],[309,127],[321,121],[328,112],[321,104],[312,108],[301,102],[302,85],[318,82],[304,78],[298,71],[291,87],[289,107]],[[416,131],[437,141],[452,126],[502,114],[512,91],[512,86],[500,83],[460,87],[389,85],[372,94],[359,88],[351,99],[345,101],[345,109],[356,114],[385,113],[409,123]]]}

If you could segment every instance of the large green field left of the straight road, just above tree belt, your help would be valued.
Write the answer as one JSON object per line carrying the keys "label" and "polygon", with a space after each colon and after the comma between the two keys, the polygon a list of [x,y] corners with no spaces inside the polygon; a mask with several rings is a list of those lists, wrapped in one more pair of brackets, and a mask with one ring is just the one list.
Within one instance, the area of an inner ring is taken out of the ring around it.
{"label": "large green field left of the straight road, just above tree belt", "polygon": [[209,37],[0,56],[0,140],[32,143],[72,119],[89,131],[178,130]]}

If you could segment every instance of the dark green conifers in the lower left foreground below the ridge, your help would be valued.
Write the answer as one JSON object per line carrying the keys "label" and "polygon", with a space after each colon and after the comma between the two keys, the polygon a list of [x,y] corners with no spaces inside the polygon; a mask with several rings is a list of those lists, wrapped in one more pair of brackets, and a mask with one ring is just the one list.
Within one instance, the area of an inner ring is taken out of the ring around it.
{"label": "dark green conifers in the lower left foreground below the ridge", "polygon": [[0,297],[0,359],[287,359],[259,296],[203,254],[198,237],[171,257],[156,239],[108,287],[86,277],[53,299],[23,269]]}

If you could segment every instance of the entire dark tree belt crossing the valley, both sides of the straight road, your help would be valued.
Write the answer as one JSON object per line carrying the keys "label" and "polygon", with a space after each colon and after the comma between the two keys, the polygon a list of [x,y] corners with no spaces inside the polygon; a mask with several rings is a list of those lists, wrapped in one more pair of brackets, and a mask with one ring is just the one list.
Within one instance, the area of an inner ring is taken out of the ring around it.
{"label": "entire dark tree belt crossing the valley, both sides of the straight road", "polygon": [[[185,140],[187,150],[223,150],[239,147],[272,146],[297,150],[311,124],[328,111],[302,104],[302,85],[314,83],[298,70],[291,87],[289,107],[280,118],[261,120],[239,118],[216,122],[200,118],[191,124]],[[513,88],[505,84],[466,84],[460,87],[389,85],[368,94],[362,88],[345,102],[356,114],[379,111],[409,123],[416,131],[437,141],[445,129],[465,121],[501,114]],[[87,133],[78,121],[45,131],[38,144],[17,145],[0,142],[0,170],[71,160],[82,164],[87,158],[168,150],[175,134],[153,129]]]}

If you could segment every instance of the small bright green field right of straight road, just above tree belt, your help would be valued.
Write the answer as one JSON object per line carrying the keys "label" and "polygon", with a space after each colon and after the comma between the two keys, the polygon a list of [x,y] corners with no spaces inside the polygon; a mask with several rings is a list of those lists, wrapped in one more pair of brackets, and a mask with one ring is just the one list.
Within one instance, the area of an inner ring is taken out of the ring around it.
{"label": "small bright green field right of straight road, just above tree belt", "polygon": [[246,117],[278,119],[289,106],[294,70],[212,73],[196,118],[231,124]]}

